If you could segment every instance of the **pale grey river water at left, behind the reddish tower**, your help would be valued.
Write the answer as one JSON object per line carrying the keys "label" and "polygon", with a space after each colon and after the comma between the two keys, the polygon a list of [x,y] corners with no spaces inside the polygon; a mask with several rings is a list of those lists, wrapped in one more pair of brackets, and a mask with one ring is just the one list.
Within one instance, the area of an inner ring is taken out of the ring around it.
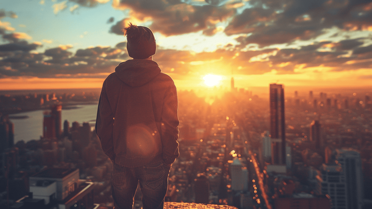
{"label": "pale grey river water at left, behind the reddish tower", "polygon": [[[62,109],[62,129],[63,122],[68,120],[70,126],[74,121],[79,123],[89,122],[92,127],[96,123],[97,104],[76,105],[78,108]],[[22,112],[9,116],[28,116],[24,119],[10,119],[14,123],[14,142],[25,141],[32,139],[40,139],[43,135],[43,112],[45,110],[35,110],[30,112]]]}

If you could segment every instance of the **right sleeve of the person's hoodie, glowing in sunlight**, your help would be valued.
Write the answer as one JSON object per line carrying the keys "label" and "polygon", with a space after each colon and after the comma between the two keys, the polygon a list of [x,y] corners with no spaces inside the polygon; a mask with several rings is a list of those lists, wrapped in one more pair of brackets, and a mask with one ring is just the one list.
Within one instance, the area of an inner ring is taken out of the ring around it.
{"label": "right sleeve of the person's hoodie, glowing in sunlight", "polygon": [[172,85],[166,91],[161,113],[161,141],[163,143],[163,160],[171,164],[179,157],[178,151],[178,101],[176,86]]}

